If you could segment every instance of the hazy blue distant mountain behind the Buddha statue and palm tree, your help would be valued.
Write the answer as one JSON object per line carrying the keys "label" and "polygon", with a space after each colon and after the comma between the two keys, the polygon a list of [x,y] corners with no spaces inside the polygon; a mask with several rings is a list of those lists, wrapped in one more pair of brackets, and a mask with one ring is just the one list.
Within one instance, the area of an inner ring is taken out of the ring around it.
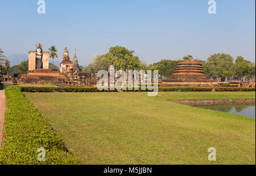
{"label": "hazy blue distant mountain behind the Buddha statue and palm tree", "polygon": [[[15,65],[19,65],[22,61],[27,61],[28,54],[12,54],[6,57],[9,61],[11,61],[11,67]],[[49,58],[49,63],[52,63],[52,59]],[[54,59],[54,65],[57,67],[60,66],[60,61],[56,61]]]}

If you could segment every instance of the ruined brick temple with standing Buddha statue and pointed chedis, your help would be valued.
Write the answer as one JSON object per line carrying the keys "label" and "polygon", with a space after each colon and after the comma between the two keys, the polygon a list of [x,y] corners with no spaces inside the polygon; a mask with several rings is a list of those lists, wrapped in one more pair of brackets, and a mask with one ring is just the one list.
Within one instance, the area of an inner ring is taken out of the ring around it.
{"label": "ruined brick temple with standing Buddha statue and pointed chedis", "polygon": [[76,56],[73,62],[69,59],[67,46],[60,63],[60,71],[48,68],[48,52],[43,52],[41,44],[36,45],[36,51],[30,51],[28,56],[29,70],[27,74],[18,75],[18,84],[43,84],[49,83],[58,86],[89,87],[96,85],[96,75],[82,72]]}

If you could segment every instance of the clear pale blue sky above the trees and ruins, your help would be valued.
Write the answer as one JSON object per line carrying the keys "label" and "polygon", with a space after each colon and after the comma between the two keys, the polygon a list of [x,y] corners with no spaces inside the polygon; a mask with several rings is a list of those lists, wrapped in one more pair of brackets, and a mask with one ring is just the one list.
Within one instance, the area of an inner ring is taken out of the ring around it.
{"label": "clear pale blue sky above the trees and ruins", "polygon": [[27,54],[41,42],[44,50],[75,48],[80,65],[110,46],[125,46],[147,63],[182,59],[191,54],[206,60],[214,53],[242,55],[255,62],[255,0],[216,0],[217,13],[208,14],[208,0],[0,0],[0,48],[6,55]]}

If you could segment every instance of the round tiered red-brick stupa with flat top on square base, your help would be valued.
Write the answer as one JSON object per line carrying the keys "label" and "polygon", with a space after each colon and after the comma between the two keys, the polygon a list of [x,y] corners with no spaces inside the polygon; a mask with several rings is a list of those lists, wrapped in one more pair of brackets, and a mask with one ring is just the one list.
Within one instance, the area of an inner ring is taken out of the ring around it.
{"label": "round tiered red-brick stupa with flat top on square base", "polygon": [[208,79],[200,61],[186,61],[177,63],[174,74],[169,79],[163,79],[161,86],[192,86],[214,87],[217,80]]}

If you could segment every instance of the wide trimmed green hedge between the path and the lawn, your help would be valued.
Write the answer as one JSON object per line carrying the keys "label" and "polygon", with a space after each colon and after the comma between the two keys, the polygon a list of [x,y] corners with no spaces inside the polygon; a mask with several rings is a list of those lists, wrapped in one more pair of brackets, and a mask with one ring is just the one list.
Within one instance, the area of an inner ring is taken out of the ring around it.
{"label": "wide trimmed green hedge between the path and the lawn", "polygon": [[[18,87],[6,88],[5,138],[0,164],[80,164]],[[38,161],[38,148],[46,160]]]}

